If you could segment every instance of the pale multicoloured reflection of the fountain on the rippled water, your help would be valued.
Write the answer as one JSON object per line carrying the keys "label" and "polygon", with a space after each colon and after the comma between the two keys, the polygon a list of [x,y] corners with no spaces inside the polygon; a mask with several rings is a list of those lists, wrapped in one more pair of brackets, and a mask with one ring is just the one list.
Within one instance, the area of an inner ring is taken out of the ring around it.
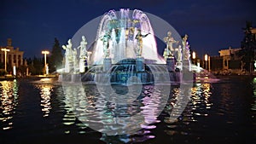
{"label": "pale multicoloured reflection of the fountain on the rippled water", "polygon": [[[110,131],[113,129],[111,124],[118,124],[121,130],[136,129],[137,126],[141,129],[137,131],[136,135],[119,135],[120,141],[146,141],[155,137],[151,134],[150,130],[156,127],[154,123],[160,122],[157,120],[157,112],[160,111],[158,104],[161,101],[160,95],[157,95],[160,94],[158,92],[154,96],[159,97],[159,101],[155,100],[155,98],[152,101],[150,98],[153,97],[152,93],[156,90],[154,86],[144,87],[143,95],[132,104],[119,104],[106,101],[106,97],[100,95],[97,91],[96,85],[79,87],[75,84],[62,84],[62,89],[65,95],[65,106],[63,108],[66,114],[62,119],[63,124],[67,126],[65,133],[70,133],[71,130],[68,128],[72,124],[76,124],[79,128],[82,128],[82,132],[80,131],[79,133],[86,133],[88,129],[85,128],[88,126],[90,128],[98,126]],[[131,117],[137,113],[143,119]],[[121,118],[121,120],[115,118]],[[76,119],[83,124],[78,124]],[[146,125],[147,123],[153,124]],[[102,134],[102,141],[109,142],[113,137],[116,136]]]}

